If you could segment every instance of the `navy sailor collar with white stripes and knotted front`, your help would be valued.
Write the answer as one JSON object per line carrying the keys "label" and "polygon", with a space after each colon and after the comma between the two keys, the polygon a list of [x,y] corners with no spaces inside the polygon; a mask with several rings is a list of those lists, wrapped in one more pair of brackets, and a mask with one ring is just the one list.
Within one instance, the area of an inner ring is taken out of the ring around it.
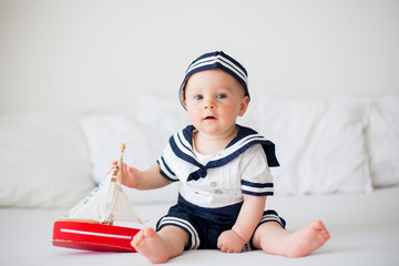
{"label": "navy sailor collar with white stripes and knotted front", "polygon": [[238,125],[237,135],[228,143],[228,145],[219,152],[206,165],[201,164],[194,153],[193,134],[195,131],[194,125],[188,125],[184,130],[177,132],[170,139],[170,145],[174,154],[181,160],[191,163],[197,167],[192,172],[187,181],[196,181],[207,175],[208,168],[215,168],[227,164],[244,153],[254,144],[260,144],[265,151],[267,163],[269,166],[279,166],[275,154],[275,145],[273,142],[259,135],[256,131]]}

